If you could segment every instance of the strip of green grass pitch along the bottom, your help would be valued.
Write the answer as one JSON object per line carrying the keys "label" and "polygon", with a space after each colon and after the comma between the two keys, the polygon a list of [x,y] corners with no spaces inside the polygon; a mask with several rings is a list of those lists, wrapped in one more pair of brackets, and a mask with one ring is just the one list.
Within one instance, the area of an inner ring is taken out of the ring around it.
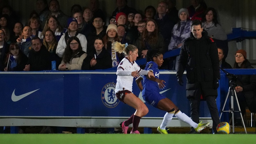
{"label": "strip of green grass pitch along the bottom", "polygon": [[0,134],[1,144],[255,144],[255,134]]}

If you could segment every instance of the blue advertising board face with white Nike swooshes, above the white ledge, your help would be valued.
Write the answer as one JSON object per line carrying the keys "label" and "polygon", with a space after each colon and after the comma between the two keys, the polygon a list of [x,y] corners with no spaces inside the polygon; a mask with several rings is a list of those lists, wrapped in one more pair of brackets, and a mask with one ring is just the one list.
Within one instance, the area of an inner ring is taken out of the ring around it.
{"label": "blue advertising board face with white Nike swooshes, above the white ledge", "polygon": [[[104,71],[1,73],[0,116],[130,116],[135,109],[115,97],[116,77],[115,72]],[[166,81],[161,93],[190,116],[185,86],[178,85],[176,72],[161,71],[160,79]],[[142,99],[135,81],[133,93]],[[166,113],[146,105],[146,117]],[[204,102],[200,117],[210,117]]]}

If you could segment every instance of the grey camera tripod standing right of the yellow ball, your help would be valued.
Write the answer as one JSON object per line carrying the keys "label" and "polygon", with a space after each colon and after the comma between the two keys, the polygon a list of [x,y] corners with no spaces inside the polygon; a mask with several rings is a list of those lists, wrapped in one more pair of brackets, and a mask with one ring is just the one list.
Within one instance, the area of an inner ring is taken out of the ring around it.
{"label": "grey camera tripod standing right of the yellow ball", "polygon": [[[233,126],[232,129],[233,129],[233,134],[234,134],[235,133],[234,112],[239,112],[240,116],[241,116],[242,124],[244,126],[245,133],[247,134],[247,131],[246,131],[246,128],[245,128],[245,125],[244,125],[243,116],[242,116],[241,109],[240,109],[240,105],[238,103],[238,99],[237,99],[237,95],[236,95],[236,90],[235,90],[236,83],[233,82],[233,80],[231,80],[229,83],[230,83],[230,87],[228,89],[228,94],[227,94],[225,103],[223,105],[223,108],[222,108],[222,111],[221,111],[221,114],[220,114],[220,119],[221,119],[221,115],[222,115],[223,112],[231,112],[232,113],[232,126]],[[228,99],[228,96],[229,96],[230,92],[231,92],[231,109],[228,110],[228,111],[224,111],[224,108],[225,108],[225,105],[226,105],[226,102],[227,102],[227,99]],[[237,106],[238,106],[239,111],[234,111],[234,97],[236,98],[236,102],[237,102]]]}

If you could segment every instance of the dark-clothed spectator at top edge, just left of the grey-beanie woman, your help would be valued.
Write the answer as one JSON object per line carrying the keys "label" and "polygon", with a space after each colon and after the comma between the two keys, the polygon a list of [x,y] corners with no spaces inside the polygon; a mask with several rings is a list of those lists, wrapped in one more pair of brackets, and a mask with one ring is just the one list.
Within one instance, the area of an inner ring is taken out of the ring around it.
{"label": "dark-clothed spectator at top edge, just left of the grey-beanie woman", "polygon": [[174,22],[174,23],[178,23],[179,21],[179,15],[178,15],[178,10],[175,7],[176,6],[176,0],[166,0],[166,3],[168,4],[168,12],[170,19]]}

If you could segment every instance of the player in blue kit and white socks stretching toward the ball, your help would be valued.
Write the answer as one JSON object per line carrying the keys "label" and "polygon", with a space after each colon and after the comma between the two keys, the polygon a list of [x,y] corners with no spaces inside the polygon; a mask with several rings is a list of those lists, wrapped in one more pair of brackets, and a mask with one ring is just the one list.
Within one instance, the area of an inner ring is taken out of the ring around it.
{"label": "player in blue kit and white socks stretching toward the ball", "polygon": [[[164,80],[159,79],[158,67],[163,64],[163,55],[158,50],[148,50],[146,56],[147,64],[145,70],[152,71],[155,77],[140,76],[136,79],[136,83],[142,91],[143,99],[150,105],[160,110],[167,111],[164,115],[162,124],[157,128],[160,134],[168,134],[166,126],[170,123],[173,116],[175,115],[179,120],[186,122],[187,124],[194,127],[196,132],[200,132],[210,125],[210,122],[206,124],[196,124],[186,114],[182,113],[179,108],[168,98],[160,94],[160,89],[165,87]],[[143,78],[142,78],[143,77]],[[141,80],[143,79],[143,87]]]}

